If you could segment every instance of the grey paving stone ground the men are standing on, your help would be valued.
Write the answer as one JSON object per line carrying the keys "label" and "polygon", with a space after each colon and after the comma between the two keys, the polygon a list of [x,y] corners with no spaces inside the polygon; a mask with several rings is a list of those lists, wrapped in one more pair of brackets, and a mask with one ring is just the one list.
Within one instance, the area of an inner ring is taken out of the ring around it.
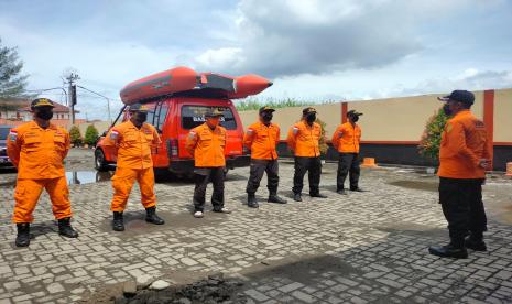
{"label": "grey paving stone ground the men are standing on", "polygon": [[[90,171],[91,155],[72,151],[67,167]],[[15,174],[2,171],[0,304],[90,302],[101,290],[143,273],[183,283],[219,271],[244,280],[250,303],[512,303],[510,180],[491,178],[484,186],[489,251],[451,260],[426,250],[447,241],[434,176],[396,167],[363,170],[361,186],[369,192],[339,196],[336,164],[327,163],[322,192],[329,197],[308,197],[306,182],[304,202],[292,203],[293,165],[283,160],[280,171],[287,205],[247,208],[248,170],[237,169],[226,183],[226,205],[233,213],[208,211],[204,219],[190,215],[189,181],[159,183],[157,210],[165,226],[143,221],[135,186],[124,232],[110,229],[110,174],[80,173],[99,181],[70,185],[80,237],[58,236],[43,195],[34,214],[35,238],[24,249],[13,246],[10,222]],[[265,200],[264,181],[258,195]]]}

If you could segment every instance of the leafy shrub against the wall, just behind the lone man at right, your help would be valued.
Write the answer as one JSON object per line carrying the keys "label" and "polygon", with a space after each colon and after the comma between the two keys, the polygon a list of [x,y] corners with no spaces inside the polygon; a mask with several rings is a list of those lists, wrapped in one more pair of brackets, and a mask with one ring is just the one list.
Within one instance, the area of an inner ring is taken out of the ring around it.
{"label": "leafy shrub against the wall, just behind the lone man at right", "polygon": [[428,119],[417,146],[422,156],[433,161],[439,160],[440,139],[447,121],[448,117],[443,111],[443,108]]}

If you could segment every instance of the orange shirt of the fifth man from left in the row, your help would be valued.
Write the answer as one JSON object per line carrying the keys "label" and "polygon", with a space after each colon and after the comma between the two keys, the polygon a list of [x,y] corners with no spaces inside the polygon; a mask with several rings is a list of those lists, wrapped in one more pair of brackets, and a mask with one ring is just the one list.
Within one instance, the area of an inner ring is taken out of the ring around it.
{"label": "orange shirt of the fifth man from left in the row", "polygon": [[316,158],[320,155],[319,141],[320,124],[314,122],[312,127],[305,120],[293,124],[290,129],[287,143],[295,156]]}

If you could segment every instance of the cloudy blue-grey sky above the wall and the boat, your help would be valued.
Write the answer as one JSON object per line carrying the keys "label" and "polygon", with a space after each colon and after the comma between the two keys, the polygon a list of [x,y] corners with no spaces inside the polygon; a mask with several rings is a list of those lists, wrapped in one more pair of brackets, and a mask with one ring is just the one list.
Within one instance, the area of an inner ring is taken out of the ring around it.
{"label": "cloudy blue-grey sky above the wall and the boat", "polygon": [[[18,46],[31,89],[72,68],[112,99],[176,65],[260,74],[274,82],[263,99],[512,87],[510,29],[511,0],[0,0],[2,44]],[[105,99],[79,90],[78,102],[106,118]]]}

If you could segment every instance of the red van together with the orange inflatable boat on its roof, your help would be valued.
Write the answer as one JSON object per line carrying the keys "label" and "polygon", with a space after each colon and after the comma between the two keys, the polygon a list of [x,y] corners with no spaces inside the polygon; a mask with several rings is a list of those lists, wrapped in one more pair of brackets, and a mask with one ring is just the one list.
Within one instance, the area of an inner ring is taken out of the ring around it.
{"label": "red van together with the orange inflatable boat on its roof", "polygon": [[[210,108],[224,110],[220,124],[227,129],[226,169],[249,166],[249,151],[243,148],[243,126],[230,99],[246,98],[272,86],[272,82],[248,74],[231,77],[215,73],[197,73],[188,67],[175,67],[138,79],[124,86],[120,96],[124,108],[115,123],[122,117],[126,121],[130,105],[142,102],[152,111],[148,122],[162,137],[162,144],[153,151],[155,169],[166,169],[177,175],[194,172],[194,160],[185,150],[190,129],[205,122],[205,112]],[[112,148],[96,144],[95,163],[98,171],[116,163]]]}

